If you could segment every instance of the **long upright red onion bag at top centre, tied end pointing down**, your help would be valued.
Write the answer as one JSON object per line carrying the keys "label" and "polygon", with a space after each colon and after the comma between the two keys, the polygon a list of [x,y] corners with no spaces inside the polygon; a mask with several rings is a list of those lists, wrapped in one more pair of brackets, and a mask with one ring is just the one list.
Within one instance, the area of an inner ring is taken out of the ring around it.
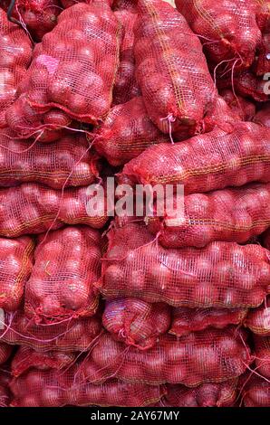
{"label": "long upright red onion bag at top centre, tied end pointing down", "polygon": [[164,133],[202,123],[216,96],[198,37],[185,18],[159,0],[139,0],[136,79],[149,118]]}

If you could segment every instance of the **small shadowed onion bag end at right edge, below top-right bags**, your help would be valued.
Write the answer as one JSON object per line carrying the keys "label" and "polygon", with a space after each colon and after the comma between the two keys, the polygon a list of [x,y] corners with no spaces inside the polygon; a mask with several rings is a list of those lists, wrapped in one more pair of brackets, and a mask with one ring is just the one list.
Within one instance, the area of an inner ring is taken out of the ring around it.
{"label": "small shadowed onion bag end at right edge, below top-right bags", "polygon": [[[233,81],[234,89],[240,96],[248,97],[258,102],[266,102],[269,99],[265,93],[265,80],[262,77],[256,77],[251,71],[241,71],[234,76]],[[217,88],[218,90],[232,90],[232,78],[218,79]]]}

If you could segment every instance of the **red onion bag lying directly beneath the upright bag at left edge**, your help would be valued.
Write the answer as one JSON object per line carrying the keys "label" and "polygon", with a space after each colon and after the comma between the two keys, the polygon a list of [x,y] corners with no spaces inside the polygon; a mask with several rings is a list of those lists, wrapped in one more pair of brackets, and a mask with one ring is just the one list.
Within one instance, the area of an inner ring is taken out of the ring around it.
{"label": "red onion bag lying directly beneath the upright bag at left edge", "polygon": [[5,315],[5,330],[0,338],[8,344],[29,346],[40,352],[69,353],[86,351],[100,333],[99,316],[36,325],[33,318],[17,311],[12,317]]}

